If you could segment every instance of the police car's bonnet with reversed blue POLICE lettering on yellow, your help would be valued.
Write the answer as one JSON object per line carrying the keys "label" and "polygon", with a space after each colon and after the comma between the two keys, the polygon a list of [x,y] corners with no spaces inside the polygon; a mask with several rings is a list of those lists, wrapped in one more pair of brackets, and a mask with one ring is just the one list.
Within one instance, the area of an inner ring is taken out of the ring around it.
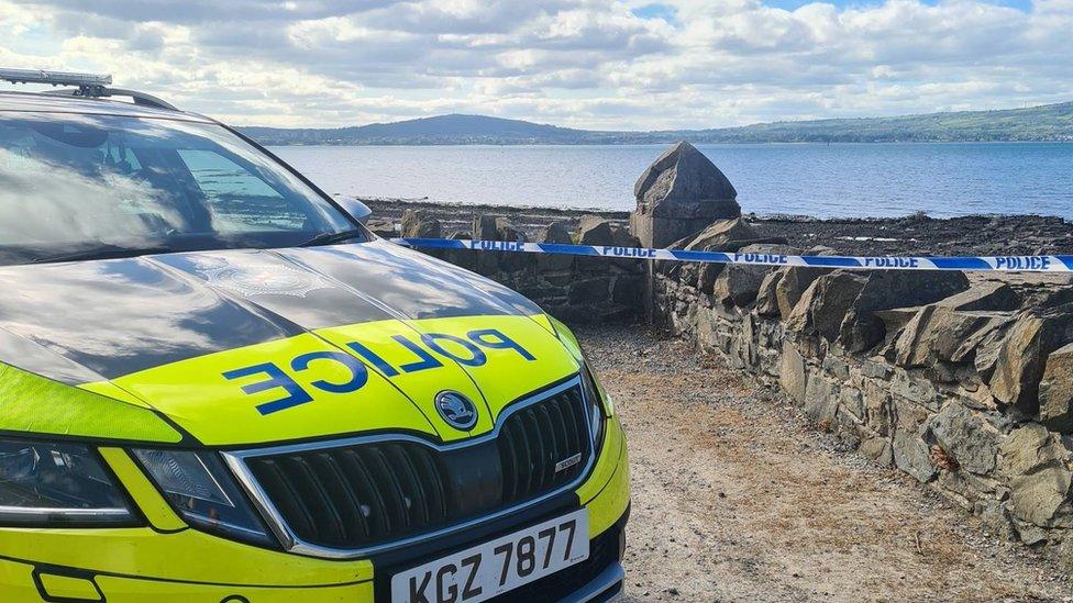
{"label": "police car's bonnet with reversed blue POLICE lettering on yellow", "polygon": [[[449,442],[493,429],[511,402],[580,366],[532,302],[383,241],[10,266],[0,287],[0,389],[37,384],[20,390],[22,414],[0,418],[5,431]],[[473,427],[436,411],[445,391],[473,402]],[[153,428],[131,428],[132,413]]]}

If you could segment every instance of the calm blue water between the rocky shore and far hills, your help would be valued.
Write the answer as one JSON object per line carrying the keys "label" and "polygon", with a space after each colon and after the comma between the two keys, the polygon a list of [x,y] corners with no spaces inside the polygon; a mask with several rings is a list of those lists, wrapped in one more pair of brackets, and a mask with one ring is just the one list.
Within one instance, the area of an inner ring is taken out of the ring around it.
{"label": "calm blue water between the rocky shore and far hills", "polygon": [[[664,146],[277,147],[329,192],[633,208]],[[816,216],[1039,213],[1073,219],[1073,144],[700,145],[745,212]]]}

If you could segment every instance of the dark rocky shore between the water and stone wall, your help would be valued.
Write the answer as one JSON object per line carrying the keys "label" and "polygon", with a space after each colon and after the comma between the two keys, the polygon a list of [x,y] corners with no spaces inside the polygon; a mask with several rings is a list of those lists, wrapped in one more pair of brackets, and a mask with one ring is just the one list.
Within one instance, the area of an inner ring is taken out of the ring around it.
{"label": "dark rocky shore between the water and stone wall", "polygon": [[[583,215],[598,215],[628,225],[628,211],[522,208],[495,204],[441,203],[424,199],[361,198],[374,221],[399,224],[407,209],[430,211],[445,236],[469,232],[476,215],[506,217],[532,235],[553,222],[576,230]],[[764,237],[785,237],[800,249],[823,245],[845,255],[1073,255],[1073,222],[1041,215],[965,215],[929,217],[810,217],[743,214]]]}

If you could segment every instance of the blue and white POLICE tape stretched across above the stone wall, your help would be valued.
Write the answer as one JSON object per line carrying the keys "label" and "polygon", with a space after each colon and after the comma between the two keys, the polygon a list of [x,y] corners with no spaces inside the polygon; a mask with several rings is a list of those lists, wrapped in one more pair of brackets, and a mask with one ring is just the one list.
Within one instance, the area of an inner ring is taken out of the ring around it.
{"label": "blue and white POLICE tape stretched across above the stone wall", "polygon": [[510,241],[468,241],[451,238],[392,238],[409,247],[471,249],[584,257],[696,261],[703,264],[746,264],[754,266],[809,266],[851,270],[958,270],[998,272],[1073,272],[1073,256],[793,256],[771,253],[698,252],[692,249],[650,249],[611,245],[567,245]]}

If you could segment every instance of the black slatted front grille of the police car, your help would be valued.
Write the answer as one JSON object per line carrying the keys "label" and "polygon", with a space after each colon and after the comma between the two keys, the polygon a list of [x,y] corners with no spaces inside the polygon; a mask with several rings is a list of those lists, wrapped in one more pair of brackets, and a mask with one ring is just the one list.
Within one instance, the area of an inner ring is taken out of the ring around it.
{"label": "black slatted front grille of the police car", "polygon": [[524,504],[580,477],[591,445],[578,386],[508,412],[494,438],[475,444],[381,438],[244,460],[302,543],[368,549]]}

